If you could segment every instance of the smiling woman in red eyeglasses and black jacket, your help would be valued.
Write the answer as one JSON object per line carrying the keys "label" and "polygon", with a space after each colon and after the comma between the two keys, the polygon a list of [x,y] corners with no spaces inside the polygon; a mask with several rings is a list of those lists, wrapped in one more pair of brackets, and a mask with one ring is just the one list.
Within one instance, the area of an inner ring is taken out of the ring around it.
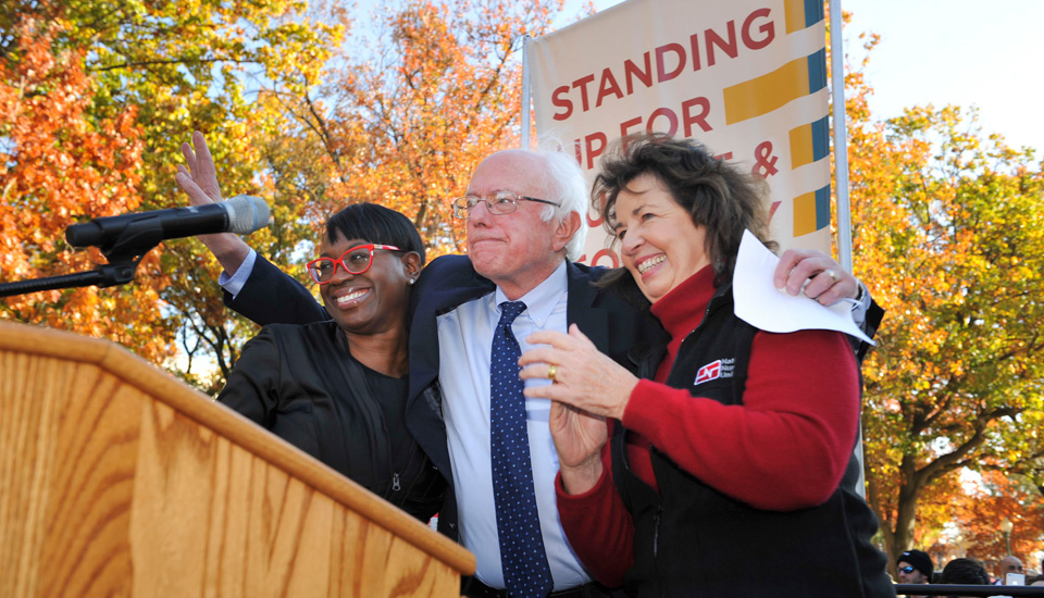
{"label": "smiling woman in red eyeglasses and black jacket", "polygon": [[427,521],[445,482],[405,420],[407,307],[423,264],[421,237],[399,212],[337,212],[307,267],[331,320],[263,327],[217,400]]}

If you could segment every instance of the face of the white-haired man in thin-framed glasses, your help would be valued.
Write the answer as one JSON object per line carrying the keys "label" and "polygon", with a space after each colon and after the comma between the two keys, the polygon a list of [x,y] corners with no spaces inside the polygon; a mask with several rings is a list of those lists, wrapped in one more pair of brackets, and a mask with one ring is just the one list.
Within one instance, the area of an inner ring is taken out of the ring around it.
{"label": "face of the white-haired man in thin-framed glasses", "polygon": [[[496,191],[546,199],[544,160],[522,150],[494,153],[475,169],[469,196],[488,197]],[[490,214],[485,202],[468,220],[468,257],[475,272],[499,286],[509,299],[518,299],[544,282],[566,257],[564,247],[580,225],[571,213],[561,222],[540,220],[546,205],[519,201],[510,214]]]}

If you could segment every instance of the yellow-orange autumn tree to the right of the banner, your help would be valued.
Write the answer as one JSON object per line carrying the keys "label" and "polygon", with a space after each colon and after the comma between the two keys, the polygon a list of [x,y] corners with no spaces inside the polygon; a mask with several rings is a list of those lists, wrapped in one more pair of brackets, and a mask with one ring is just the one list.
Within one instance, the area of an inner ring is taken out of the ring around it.
{"label": "yellow-orange autumn tree to the right of the banner", "polygon": [[856,275],[886,310],[863,366],[868,499],[894,562],[957,472],[1041,483],[1044,175],[974,110],[878,122],[861,70],[847,82]]}

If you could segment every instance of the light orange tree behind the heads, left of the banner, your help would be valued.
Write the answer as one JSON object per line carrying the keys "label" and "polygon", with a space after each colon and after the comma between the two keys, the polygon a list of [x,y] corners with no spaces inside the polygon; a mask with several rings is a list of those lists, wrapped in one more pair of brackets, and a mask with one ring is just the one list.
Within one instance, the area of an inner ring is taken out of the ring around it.
{"label": "light orange tree behind the heads, left of the banner", "polygon": [[547,32],[561,4],[389,2],[335,58],[325,85],[274,90],[330,166],[311,217],[374,201],[409,215],[433,254],[460,250],[449,200],[482,158],[518,146],[522,40]]}

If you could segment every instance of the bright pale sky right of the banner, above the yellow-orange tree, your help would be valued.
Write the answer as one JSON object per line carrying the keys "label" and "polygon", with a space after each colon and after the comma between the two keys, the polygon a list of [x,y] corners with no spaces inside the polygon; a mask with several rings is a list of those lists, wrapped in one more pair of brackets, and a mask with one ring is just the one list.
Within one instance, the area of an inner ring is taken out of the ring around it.
{"label": "bright pale sky right of the banner, above the yellow-orange tree", "polygon": [[[605,10],[620,0],[596,0]],[[568,0],[566,14],[582,2]],[[1012,147],[1044,149],[1044,0],[842,0],[850,12],[848,55],[862,55],[859,33],[881,42],[867,80],[870,109],[886,119],[931,103],[977,105],[986,134]]]}

